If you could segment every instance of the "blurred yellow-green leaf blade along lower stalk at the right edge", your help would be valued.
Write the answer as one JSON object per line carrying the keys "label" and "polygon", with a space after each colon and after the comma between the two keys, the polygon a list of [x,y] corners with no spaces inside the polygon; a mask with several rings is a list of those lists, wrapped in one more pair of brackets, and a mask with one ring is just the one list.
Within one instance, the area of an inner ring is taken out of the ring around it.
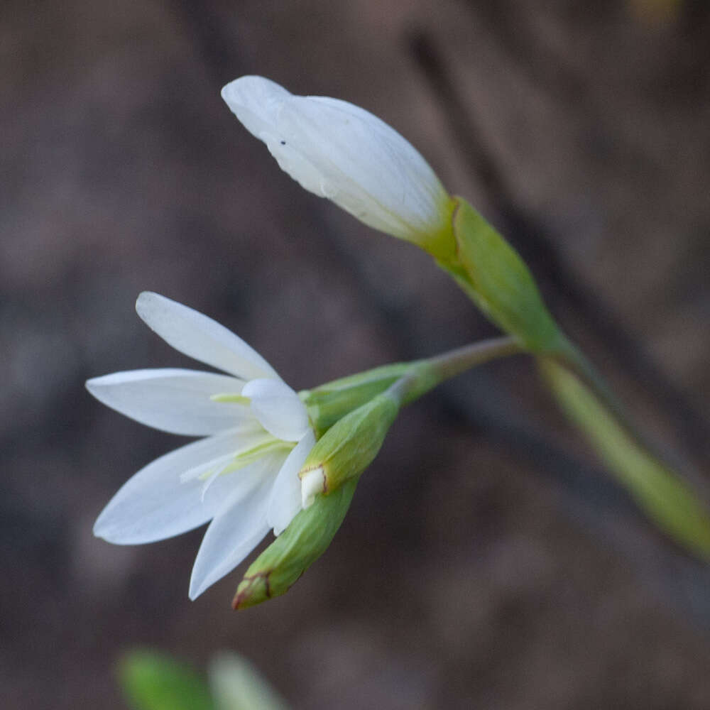
{"label": "blurred yellow-green leaf blade along lower stalk at the right edge", "polygon": [[648,517],[680,545],[710,559],[710,517],[691,486],[635,442],[567,368],[551,359],[541,359],[540,368],[562,409]]}

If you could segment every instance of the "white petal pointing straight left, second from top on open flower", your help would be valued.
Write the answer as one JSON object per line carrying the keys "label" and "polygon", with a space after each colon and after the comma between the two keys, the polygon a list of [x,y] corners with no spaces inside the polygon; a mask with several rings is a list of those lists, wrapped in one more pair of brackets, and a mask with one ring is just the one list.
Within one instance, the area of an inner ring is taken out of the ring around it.
{"label": "white petal pointing straight left, second from top on open flower", "polygon": [[213,402],[217,394],[241,393],[244,381],[179,369],[115,372],[87,381],[97,400],[148,427],[186,436],[207,436],[253,419],[248,405]]}

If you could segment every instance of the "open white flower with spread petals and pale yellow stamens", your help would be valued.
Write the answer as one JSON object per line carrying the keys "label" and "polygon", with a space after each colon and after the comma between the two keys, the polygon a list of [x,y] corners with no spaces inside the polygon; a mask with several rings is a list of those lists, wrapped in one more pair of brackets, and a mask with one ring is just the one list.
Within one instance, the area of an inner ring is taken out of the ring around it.
{"label": "open white flower with spread petals and pale yellow stamens", "polygon": [[133,370],[87,382],[94,397],[142,424],[206,437],[138,471],[94,534],[135,545],[212,520],[192,568],[195,599],[301,509],[298,471],[315,435],[298,395],[234,333],[156,293],[141,293],[136,311],[175,349],[229,374]]}

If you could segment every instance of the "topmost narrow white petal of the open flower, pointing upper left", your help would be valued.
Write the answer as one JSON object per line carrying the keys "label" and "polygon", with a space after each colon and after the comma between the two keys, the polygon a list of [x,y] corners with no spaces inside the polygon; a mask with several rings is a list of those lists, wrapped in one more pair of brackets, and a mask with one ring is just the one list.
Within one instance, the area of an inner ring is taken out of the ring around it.
{"label": "topmost narrow white petal of the open flower, pointing upper left", "polygon": [[148,327],[185,355],[245,380],[278,377],[244,340],[192,308],[144,291],[138,296],[136,311]]}

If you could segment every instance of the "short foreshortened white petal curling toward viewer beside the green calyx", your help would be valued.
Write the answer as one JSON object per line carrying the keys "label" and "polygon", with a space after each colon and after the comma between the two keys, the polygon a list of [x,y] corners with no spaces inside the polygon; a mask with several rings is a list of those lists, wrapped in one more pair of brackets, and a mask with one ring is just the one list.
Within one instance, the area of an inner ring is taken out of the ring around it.
{"label": "short foreshortened white petal curling toward viewer beside the green calyx", "polygon": [[307,432],[308,412],[298,395],[280,380],[252,380],[241,391],[261,426],[277,439],[297,442]]}

